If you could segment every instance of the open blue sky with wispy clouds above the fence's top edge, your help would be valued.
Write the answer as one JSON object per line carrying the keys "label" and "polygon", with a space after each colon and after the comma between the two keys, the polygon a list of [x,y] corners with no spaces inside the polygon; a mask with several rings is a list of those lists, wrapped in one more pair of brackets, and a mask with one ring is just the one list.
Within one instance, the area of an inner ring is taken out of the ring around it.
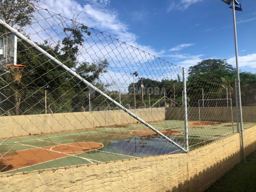
{"label": "open blue sky with wispy clouds above the fence's top edge", "polygon": [[[85,25],[182,67],[203,59],[235,66],[232,10],[221,0],[118,1],[45,0],[41,6],[70,16],[82,11]],[[236,12],[241,71],[255,73],[256,1]]]}

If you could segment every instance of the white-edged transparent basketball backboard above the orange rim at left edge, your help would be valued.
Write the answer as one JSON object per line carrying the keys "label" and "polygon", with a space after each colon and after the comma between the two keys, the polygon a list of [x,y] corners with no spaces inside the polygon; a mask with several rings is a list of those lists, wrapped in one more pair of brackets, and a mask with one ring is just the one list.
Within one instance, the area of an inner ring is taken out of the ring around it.
{"label": "white-edged transparent basketball backboard above the orange rim at left edge", "polygon": [[0,36],[0,69],[17,65],[17,37],[14,34]]}

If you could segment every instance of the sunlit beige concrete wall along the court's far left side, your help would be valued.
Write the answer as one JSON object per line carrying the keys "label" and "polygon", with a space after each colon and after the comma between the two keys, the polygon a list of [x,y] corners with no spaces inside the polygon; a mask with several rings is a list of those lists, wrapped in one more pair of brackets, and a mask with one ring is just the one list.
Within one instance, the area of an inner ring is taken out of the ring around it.
{"label": "sunlit beige concrete wall along the court's far left side", "polygon": [[[164,108],[133,109],[133,113],[145,121],[165,119]],[[0,137],[24,136],[28,134],[54,133],[74,129],[137,123],[122,110],[56,113],[39,115],[17,115],[0,117]]]}

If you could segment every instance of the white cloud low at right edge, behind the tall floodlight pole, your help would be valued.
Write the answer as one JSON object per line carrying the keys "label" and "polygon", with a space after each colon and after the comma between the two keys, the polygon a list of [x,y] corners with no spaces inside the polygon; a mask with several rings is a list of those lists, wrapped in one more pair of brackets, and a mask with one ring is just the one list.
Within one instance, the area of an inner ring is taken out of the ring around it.
{"label": "white cloud low at right edge, behind the tall floodlight pole", "polygon": [[[231,57],[227,62],[236,66],[236,57]],[[239,67],[256,68],[256,53],[238,57]]]}

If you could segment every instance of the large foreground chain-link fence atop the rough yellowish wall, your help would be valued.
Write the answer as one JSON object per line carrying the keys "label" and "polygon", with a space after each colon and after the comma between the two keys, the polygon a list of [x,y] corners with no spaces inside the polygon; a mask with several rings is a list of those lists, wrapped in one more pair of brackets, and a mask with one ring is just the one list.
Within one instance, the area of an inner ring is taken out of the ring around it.
{"label": "large foreground chain-link fence atop the rough yellowish wall", "polygon": [[[18,38],[17,65],[0,74],[1,176],[188,153],[239,131],[235,81],[29,8],[27,22],[0,20],[1,38]],[[248,127],[254,87],[241,84]]]}

